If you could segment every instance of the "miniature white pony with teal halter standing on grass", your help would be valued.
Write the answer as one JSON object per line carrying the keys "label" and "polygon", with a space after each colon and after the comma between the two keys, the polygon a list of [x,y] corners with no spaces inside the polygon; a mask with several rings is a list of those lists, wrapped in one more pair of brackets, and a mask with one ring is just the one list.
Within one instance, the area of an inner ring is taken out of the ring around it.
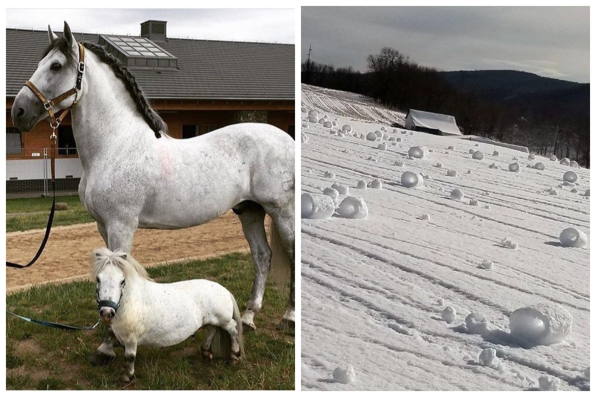
{"label": "miniature white pony with teal halter standing on grass", "polygon": [[[120,380],[135,374],[136,346],[171,346],[205,327],[201,355],[210,361],[228,355],[232,365],[244,357],[240,311],[231,292],[209,280],[160,284],[131,255],[98,248],[91,254],[97,304],[111,337],[124,345],[126,365]],[[113,343],[101,345],[114,358]]]}

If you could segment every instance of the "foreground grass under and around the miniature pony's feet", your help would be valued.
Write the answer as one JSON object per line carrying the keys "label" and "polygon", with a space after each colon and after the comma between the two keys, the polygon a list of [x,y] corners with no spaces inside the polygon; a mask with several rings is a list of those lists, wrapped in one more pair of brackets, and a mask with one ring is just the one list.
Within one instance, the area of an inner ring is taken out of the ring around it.
{"label": "foreground grass under and around the miniature pony's feet", "polygon": [[[252,288],[253,264],[247,254],[230,254],[206,261],[148,269],[157,282],[204,278],[234,293],[241,311]],[[89,357],[103,340],[105,327],[94,331],[64,331],[38,326],[7,314],[7,390],[180,390],[294,389],[294,331],[275,329],[285,311],[287,287],[268,285],[256,332],[245,334],[246,360],[232,366],[216,358],[204,362],[200,343],[204,331],[167,348],[139,346],[135,379],[125,385],[117,377],[124,363],[123,348],[116,360],[94,367]],[[8,295],[7,309],[24,317],[77,326],[98,319],[95,284],[75,282],[35,286]]]}

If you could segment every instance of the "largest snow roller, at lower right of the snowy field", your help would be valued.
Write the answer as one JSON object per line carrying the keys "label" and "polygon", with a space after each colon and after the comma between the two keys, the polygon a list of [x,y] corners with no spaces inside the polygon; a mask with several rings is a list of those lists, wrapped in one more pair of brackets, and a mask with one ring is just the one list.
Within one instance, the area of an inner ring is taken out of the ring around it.
{"label": "largest snow roller, at lower right of the snowy field", "polygon": [[511,336],[534,345],[563,342],[571,332],[573,317],[561,305],[538,304],[511,313]]}

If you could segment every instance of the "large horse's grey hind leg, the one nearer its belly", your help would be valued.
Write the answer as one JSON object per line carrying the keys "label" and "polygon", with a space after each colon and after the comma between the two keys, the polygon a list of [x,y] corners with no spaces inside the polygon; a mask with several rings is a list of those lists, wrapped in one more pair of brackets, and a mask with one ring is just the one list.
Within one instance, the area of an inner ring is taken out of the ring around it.
{"label": "large horse's grey hind leg, the one nearer its belly", "polygon": [[246,312],[242,316],[245,331],[256,329],[254,315],[263,304],[265,282],[269,275],[271,265],[271,249],[265,233],[265,210],[260,204],[253,201],[244,201],[234,207],[234,212],[240,217],[244,236],[249,242],[250,254],[254,261],[253,289],[250,293]]}

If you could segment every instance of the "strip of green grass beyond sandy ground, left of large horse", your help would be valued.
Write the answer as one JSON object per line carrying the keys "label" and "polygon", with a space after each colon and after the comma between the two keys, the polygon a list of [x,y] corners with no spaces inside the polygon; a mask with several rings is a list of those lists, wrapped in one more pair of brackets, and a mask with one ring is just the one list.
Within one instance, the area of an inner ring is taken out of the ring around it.
{"label": "strip of green grass beyond sandy ground, left of large horse", "polygon": [[[93,218],[85,211],[79,196],[59,196],[56,202],[66,202],[69,209],[55,211],[52,226],[65,226],[92,222]],[[45,229],[48,224],[49,210],[52,208],[51,197],[15,198],[6,200],[6,231]]]}

